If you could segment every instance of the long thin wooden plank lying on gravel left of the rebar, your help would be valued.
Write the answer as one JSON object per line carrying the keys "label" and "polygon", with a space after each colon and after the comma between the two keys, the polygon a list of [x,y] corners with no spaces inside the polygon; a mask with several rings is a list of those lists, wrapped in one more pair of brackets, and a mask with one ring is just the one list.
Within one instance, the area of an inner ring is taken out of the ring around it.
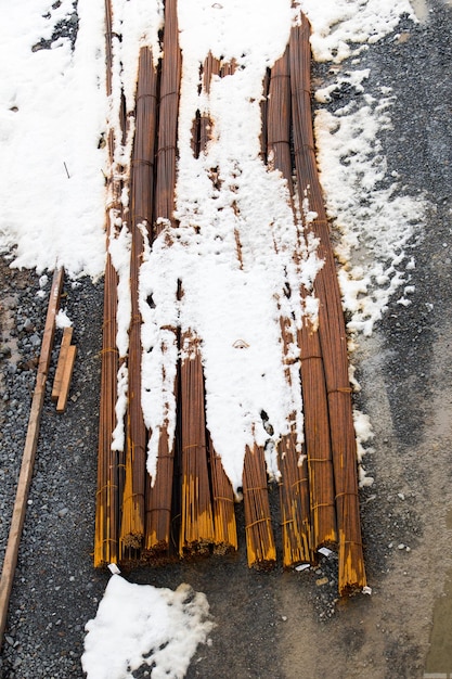
{"label": "long thin wooden plank lying on gravel left of the rebar", "polygon": [[0,648],[3,642],[3,633],[7,627],[8,606],[13,588],[14,573],[17,564],[18,546],[22,529],[24,527],[27,508],[28,490],[31,483],[33,467],[35,463],[36,448],[38,445],[39,424],[46,394],[46,381],[49,372],[52,354],[53,337],[55,332],[55,317],[60,305],[60,295],[63,287],[64,270],[56,269],[53,274],[52,289],[50,292],[49,306],[44,332],[42,336],[41,353],[39,356],[38,374],[28,418],[28,430],[25,439],[22,458],[21,473],[17,483],[17,492],[11,520],[10,534],[4,553],[3,568],[0,580]]}

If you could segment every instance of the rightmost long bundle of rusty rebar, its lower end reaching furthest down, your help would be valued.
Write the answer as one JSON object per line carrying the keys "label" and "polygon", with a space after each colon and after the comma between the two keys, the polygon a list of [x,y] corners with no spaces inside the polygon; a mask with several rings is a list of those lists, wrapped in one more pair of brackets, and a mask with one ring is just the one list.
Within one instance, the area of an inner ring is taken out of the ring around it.
{"label": "rightmost long bundle of rusty rebar, its lower end reaching furthest down", "polygon": [[[301,18],[301,25],[292,29],[289,41],[294,155],[300,203],[306,197],[309,210],[317,215],[307,225],[307,232],[319,240],[318,256],[324,261],[315,277],[314,292],[320,303],[319,340],[334,470],[339,592],[344,594],[361,590],[366,584],[358,498],[357,441],[344,310],[314,152],[310,113],[310,26],[304,15]],[[301,355],[301,366],[304,358]],[[321,464],[330,464],[325,462],[326,458],[330,459],[326,451],[321,451]]]}

